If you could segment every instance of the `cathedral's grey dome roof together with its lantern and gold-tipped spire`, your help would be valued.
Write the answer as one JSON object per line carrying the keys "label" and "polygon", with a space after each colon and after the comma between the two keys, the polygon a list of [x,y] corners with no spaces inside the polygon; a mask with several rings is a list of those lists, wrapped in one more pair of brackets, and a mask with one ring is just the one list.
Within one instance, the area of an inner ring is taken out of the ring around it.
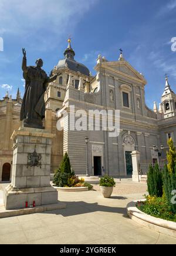
{"label": "cathedral's grey dome roof together with its lantern and gold-tipped spire", "polygon": [[59,60],[57,69],[68,68],[75,72],[80,72],[83,75],[89,76],[90,75],[89,69],[86,66],[84,66],[82,63],[79,63],[74,59],[75,51],[72,49],[72,46],[70,44],[71,42],[70,39],[68,40],[68,42],[69,42],[69,45],[67,46],[67,49],[64,52],[65,59]]}

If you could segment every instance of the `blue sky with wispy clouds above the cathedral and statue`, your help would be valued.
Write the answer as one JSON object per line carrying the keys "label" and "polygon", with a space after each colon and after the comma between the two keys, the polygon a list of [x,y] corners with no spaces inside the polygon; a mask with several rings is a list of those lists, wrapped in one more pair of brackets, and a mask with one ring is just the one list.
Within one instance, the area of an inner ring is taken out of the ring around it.
{"label": "blue sky with wispy clouds above the cathedral and statue", "polygon": [[[145,100],[149,107],[160,102],[164,74],[176,92],[176,0],[0,0],[0,98],[9,89],[16,96],[22,81],[22,47],[28,65],[42,58],[47,73],[53,69],[71,35],[75,59],[94,74],[96,58],[124,58],[147,79]],[[6,85],[6,86],[5,86]]]}

